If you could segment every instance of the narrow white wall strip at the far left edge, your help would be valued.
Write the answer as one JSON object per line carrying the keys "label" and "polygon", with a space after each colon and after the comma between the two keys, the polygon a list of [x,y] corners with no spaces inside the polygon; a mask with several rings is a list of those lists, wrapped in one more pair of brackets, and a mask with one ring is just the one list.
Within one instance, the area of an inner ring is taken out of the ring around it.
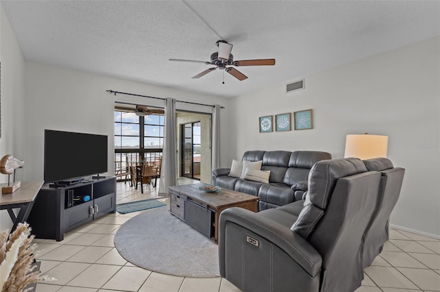
{"label": "narrow white wall strip at the far left edge", "polygon": [[[1,62],[1,138],[0,158],[6,154],[25,160],[24,112],[25,108],[25,60],[8,17],[0,3],[0,62]],[[28,167],[25,161],[25,168]],[[23,180],[25,172],[17,170],[17,180]],[[0,174],[0,182],[8,182],[8,175]],[[1,194],[0,194],[1,195]],[[6,210],[0,211],[0,230],[12,227]]]}

